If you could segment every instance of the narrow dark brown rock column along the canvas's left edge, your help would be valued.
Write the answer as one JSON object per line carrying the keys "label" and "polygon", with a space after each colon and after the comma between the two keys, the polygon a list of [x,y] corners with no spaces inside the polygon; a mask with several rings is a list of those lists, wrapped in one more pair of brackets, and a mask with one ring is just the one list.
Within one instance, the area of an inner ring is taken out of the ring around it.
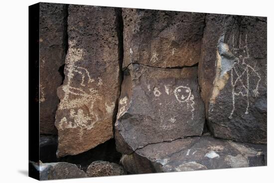
{"label": "narrow dark brown rock column along the canvas's left edge", "polygon": [[40,3],[40,134],[57,134],[56,90],[63,80],[58,70],[65,63],[66,17],[65,4]]}

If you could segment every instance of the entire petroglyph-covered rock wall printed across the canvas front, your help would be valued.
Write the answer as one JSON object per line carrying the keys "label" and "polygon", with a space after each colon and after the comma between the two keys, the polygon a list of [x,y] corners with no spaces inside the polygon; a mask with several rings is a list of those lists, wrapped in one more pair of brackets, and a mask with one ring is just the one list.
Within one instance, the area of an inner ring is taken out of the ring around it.
{"label": "entire petroglyph-covered rock wall printed across the canvas front", "polygon": [[40,3],[39,42],[41,179],[267,164],[265,17]]}

